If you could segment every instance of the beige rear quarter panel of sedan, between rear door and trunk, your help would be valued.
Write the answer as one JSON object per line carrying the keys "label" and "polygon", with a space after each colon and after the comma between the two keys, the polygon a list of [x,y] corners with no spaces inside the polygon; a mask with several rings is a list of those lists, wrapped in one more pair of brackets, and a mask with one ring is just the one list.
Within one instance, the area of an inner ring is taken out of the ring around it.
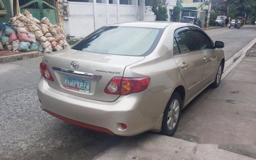
{"label": "beige rear quarter panel of sedan, between rear door and trunk", "polygon": [[173,37],[176,28],[172,26],[165,28],[158,45],[150,55],[142,61],[128,65],[123,74],[123,77],[150,77],[151,81],[147,89],[153,93],[160,93],[159,96],[162,96],[164,90],[167,91],[165,94],[168,96],[157,106],[160,114],[164,112],[174,89],[179,85],[186,88],[173,58]]}

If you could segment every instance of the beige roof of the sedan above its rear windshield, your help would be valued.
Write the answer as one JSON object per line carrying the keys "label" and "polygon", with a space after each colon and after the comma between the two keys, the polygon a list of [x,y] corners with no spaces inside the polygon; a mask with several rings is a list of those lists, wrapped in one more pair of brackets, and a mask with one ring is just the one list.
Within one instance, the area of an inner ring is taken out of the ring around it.
{"label": "beige roof of the sedan above its rear windshield", "polygon": [[[152,22],[124,22],[119,24],[110,24],[107,26],[132,26],[132,27],[149,27],[149,28],[166,28],[169,25],[177,24],[179,22],[168,22],[168,21],[152,21]],[[181,23],[183,24],[183,23]]]}

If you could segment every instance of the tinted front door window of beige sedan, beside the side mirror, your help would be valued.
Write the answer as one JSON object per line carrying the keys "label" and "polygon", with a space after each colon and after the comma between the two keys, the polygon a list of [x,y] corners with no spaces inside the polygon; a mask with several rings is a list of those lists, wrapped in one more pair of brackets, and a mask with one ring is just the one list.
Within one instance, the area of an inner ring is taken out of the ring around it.
{"label": "tinted front door window of beige sedan, beside the side mirror", "polygon": [[193,33],[195,35],[199,50],[212,48],[212,43],[210,39],[206,37],[206,35],[197,30],[193,30]]}

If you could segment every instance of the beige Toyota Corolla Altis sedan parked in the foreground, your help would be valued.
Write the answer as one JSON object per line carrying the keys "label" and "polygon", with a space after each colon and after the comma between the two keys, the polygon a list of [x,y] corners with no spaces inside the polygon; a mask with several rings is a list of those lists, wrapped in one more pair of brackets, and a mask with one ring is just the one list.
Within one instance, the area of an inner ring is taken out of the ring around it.
{"label": "beige Toyota Corolla Altis sedan parked in the foreground", "polygon": [[40,107],[91,130],[172,136],[181,110],[207,86],[219,86],[223,47],[192,24],[104,26],[72,48],[44,56]]}

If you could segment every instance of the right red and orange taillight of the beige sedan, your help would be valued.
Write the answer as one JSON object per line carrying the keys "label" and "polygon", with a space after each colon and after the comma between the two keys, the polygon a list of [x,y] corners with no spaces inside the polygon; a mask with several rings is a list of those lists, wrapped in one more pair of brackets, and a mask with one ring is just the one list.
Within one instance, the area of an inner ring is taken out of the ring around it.
{"label": "right red and orange taillight of the beige sedan", "polygon": [[150,82],[149,77],[121,78],[114,77],[105,87],[104,92],[111,95],[129,95],[146,90]]}

